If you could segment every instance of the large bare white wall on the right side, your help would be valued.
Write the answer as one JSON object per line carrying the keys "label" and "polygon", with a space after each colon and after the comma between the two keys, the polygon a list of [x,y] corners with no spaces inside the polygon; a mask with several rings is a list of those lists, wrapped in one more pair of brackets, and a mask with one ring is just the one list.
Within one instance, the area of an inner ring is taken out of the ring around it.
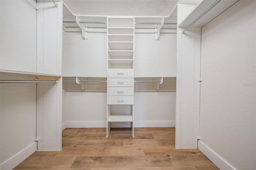
{"label": "large bare white wall on the right side", "polygon": [[255,30],[255,0],[202,28],[200,146],[226,162],[221,169],[256,169]]}

